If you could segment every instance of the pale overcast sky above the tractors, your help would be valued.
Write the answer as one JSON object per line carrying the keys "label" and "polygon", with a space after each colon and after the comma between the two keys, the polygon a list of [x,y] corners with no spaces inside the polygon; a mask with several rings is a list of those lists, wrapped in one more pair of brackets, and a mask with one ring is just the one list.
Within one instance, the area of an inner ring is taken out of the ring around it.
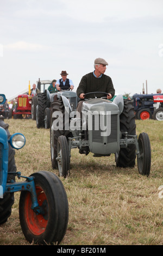
{"label": "pale overcast sky above the tractors", "polygon": [[[115,94],[163,91],[162,0],[0,0],[0,84],[10,99],[66,70],[76,91],[108,62]],[[147,91],[146,91],[147,84]]]}

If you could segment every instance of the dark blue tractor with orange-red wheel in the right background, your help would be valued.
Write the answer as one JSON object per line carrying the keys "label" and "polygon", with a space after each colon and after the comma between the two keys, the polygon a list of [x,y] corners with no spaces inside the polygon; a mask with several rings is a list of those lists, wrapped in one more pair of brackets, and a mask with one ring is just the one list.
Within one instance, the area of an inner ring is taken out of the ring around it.
{"label": "dark blue tractor with orange-red wheel in the right background", "polygon": [[[152,119],[154,112],[153,96],[158,94],[134,94],[132,97],[136,119]],[[162,94],[161,94],[162,95]]]}

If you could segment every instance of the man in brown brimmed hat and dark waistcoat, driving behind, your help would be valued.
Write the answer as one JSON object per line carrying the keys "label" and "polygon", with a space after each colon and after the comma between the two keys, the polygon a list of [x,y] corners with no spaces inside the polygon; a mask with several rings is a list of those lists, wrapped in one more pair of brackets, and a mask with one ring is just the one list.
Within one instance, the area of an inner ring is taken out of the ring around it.
{"label": "man in brown brimmed hat and dark waistcoat, driving behind", "polygon": [[67,72],[66,71],[61,71],[61,77],[59,80],[57,80],[56,82],[56,87],[58,90],[67,90],[68,88],[70,88],[71,90],[73,89],[73,82],[72,80],[67,78]]}

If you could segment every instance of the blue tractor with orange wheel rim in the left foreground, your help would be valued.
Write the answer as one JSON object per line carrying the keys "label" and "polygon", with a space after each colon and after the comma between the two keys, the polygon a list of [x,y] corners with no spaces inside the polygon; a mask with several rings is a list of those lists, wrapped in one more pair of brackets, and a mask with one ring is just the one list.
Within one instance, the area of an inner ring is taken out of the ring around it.
{"label": "blue tractor with orange wheel rim in the left foreground", "polygon": [[[0,94],[0,104],[5,102]],[[20,224],[27,241],[59,244],[68,223],[68,202],[65,188],[57,175],[39,171],[22,176],[16,171],[15,150],[21,149],[26,138],[21,133],[10,135],[9,125],[0,117],[0,225],[7,222],[14,204],[14,193],[21,191]],[[24,178],[16,182],[16,178]]]}

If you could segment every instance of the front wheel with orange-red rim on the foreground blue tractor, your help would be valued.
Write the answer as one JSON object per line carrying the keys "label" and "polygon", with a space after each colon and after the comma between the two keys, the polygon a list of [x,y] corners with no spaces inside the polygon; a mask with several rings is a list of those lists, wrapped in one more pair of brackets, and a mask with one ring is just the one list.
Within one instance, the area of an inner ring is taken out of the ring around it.
{"label": "front wheel with orange-red rim on the foreground blue tractor", "polygon": [[30,243],[59,244],[64,238],[68,223],[68,201],[65,188],[57,175],[37,172],[34,176],[37,201],[43,214],[31,209],[30,192],[22,191],[19,203],[20,224]]}

